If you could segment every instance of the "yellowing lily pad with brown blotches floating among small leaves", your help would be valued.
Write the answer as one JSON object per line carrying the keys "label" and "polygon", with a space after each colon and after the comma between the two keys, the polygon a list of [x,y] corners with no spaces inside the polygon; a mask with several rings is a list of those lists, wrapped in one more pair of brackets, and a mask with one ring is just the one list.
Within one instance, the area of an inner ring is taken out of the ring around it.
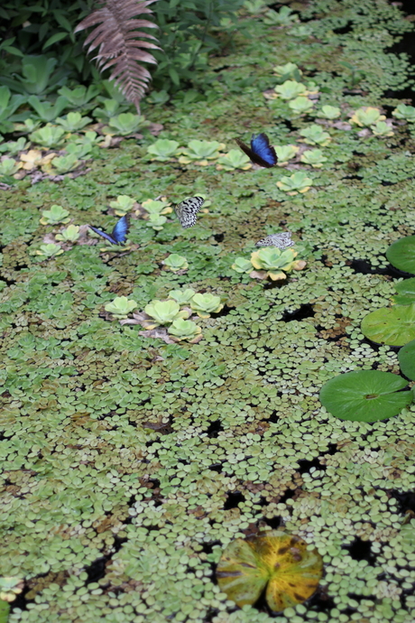
{"label": "yellowing lily pad with brown blotches floating among small leaves", "polygon": [[298,536],[272,530],[228,544],[217,564],[217,583],[240,608],[252,605],[266,588],[274,612],[297,606],[315,592],[323,573],[317,550]]}

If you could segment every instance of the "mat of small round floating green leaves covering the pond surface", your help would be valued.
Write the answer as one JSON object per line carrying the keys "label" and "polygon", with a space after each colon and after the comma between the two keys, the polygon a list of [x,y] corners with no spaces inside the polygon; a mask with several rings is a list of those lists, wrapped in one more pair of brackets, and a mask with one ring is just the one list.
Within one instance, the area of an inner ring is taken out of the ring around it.
{"label": "mat of small round floating green leaves covering the pond surface", "polygon": [[[324,127],[321,168],[152,162],[148,135],[97,148],[76,179],[26,178],[2,191],[0,574],[25,580],[9,623],[415,620],[415,406],[366,424],[318,402],[342,372],[400,371],[396,349],[369,343],[360,323],[392,304],[397,277],[384,254],[415,228],[415,128],[392,116],[413,83],[399,49],[413,23],[383,0],[291,6],[302,22],[288,27],[241,15],[203,98],[143,112],[164,126],[159,138],[229,150],[235,136],[261,131],[300,145],[321,106],[340,107],[344,125]],[[277,84],[272,68],[287,62],[317,85],[308,115],[263,97]],[[361,107],[381,109],[392,135],[350,123]],[[277,187],[299,170],[309,191]],[[33,252],[60,230],[40,223],[53,204],[76,225],[111,228],[120,194],[199,193],[210,205],[189,230],[171,217],[160,231],[132,219],[130,253]],[[304,270],[272,285],[232,269],[282,229]],[[186,272],[165,270],[172,253]],[[142,311],[182,286],[225,303],[198,319],[197,344],[145,337],[104,312],[115,296]],[[320,590],[276,615],[237,609],[215,581],[221,552],[279,525],[323,555]]]}

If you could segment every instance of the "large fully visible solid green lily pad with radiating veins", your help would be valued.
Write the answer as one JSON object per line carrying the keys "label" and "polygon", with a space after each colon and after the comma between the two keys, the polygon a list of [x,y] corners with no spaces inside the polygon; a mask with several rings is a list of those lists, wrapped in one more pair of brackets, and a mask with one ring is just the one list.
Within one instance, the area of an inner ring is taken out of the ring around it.
{"label": "large fully visible solid green lily pad with radiating veins", "polygon": [[412,392],[398,392],[406,385],[404,378],[392,372],[346,372],[327,381],[319,399],[340,420],[377,422],[399,414],[412,402]]}

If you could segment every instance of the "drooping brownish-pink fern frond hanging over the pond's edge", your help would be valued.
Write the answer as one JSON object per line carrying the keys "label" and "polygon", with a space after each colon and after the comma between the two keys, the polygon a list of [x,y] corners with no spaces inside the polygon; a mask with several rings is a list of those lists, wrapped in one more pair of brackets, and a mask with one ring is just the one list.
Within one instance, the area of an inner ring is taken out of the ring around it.
{"label": "drooping brownish-pink fern frond hanging over the pond's edge", "polygon": [[[158,28],[148,20],[133,19],[136,15],[152,14],[147,8],[157,0],[106,0],[82,22],[78,23],[74,33],[83,31],[90,26],[97,26],[88,34],[84,46],[88,53],[98,48],[97,66],[100,71],[112,68],[109,77],[119,86],[129,102],[132,102],[140,114],[140,100],[143,98],[149,80],[150,72],[143,68],[142,62],[157,63],[152,54],[144,51],[146,48],[161,50],[152,42],[145,42],[143,38],[157,41],[152,34],[143,33],[138,28]],[[138,39],[140,37],[140,39]]]}

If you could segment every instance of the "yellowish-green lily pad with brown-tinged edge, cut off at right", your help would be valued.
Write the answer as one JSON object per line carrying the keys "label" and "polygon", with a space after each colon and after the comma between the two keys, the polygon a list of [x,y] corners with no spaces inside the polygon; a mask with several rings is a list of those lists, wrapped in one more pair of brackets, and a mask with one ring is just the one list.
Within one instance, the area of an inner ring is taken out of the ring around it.
{"label": "yellowish-green lily pad with brown-tinged edge, cut off at right", "polygon": [[403,346],[415,339],[415,302],[370,312],[360,327],[364,336],[377,344]]}

